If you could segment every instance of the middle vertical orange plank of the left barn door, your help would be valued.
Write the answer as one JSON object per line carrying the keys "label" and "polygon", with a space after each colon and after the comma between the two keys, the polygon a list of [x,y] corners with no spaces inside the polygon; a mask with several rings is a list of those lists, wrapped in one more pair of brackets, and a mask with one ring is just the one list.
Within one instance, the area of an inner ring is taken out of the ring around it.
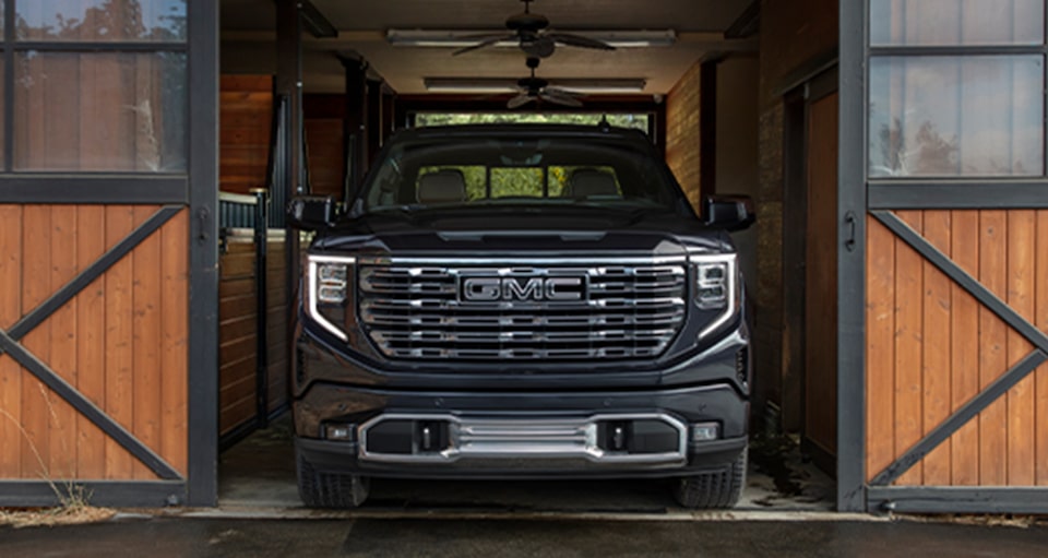
{"label": "middle vertical orange plank of the left barn door", "polygon": [[[81,205],[76,213],[76,261],[80,269],[85,269],[106,251],[106,210],[100,205]],[[78,388],[100,408],[106,408],[105,288],[105,278],[99,277],[76,297]],[[76,423],[80,477],[105,478],[106,435],[82,415]]]}

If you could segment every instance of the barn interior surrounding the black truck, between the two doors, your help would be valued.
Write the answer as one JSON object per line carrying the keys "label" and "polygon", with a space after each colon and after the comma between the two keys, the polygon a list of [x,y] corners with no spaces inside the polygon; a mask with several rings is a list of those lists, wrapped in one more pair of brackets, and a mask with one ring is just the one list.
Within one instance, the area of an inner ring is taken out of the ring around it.
{"label": "barn interior surrounding the black truck, between the two doors", "polygon": [[[284,2],[222,0],[219,504],[300,506],[283,378],[295,248],[276,211],[291,185],[342,198],[396,129],[485,114],[636,115],[693,203],[713,193],[754,199],[758,225],[735,240],[753,310],[751,429],[762,441],[740,506],[832,509],[836,357],[826,347],[836,306],[825,294],[835,288],[836,238],[817,233],[836,211],[837,4],[795,4],[312,0],[302,4],[297,41]],[[463,47],[457,37],[499,33],[525,8],[556,32],[617,46],[558,45],[540,60],[536,75],[577,92],[581,107],[539,100],[508,109],[529,72],[528,55],[512,41],[453,55]],[[301,163],[290,147],[296,129]],[[377,484],[372,500],[393,509],[668,504],[651,483],[390,482]]]}

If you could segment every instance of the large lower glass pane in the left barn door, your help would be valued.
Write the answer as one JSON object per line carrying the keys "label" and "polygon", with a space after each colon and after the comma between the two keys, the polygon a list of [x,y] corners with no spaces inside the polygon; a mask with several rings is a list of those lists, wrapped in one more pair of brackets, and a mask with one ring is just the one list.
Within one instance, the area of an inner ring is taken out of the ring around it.
{"label": "large lower glass pane in the left barn door", "polygon": [[186,169],[186,56],[20,52],[16,170]]}

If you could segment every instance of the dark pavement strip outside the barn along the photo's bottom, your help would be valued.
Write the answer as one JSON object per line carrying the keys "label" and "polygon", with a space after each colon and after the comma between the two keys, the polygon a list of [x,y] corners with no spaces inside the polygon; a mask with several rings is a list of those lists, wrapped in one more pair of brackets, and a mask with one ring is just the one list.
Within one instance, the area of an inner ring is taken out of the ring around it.
{"label": "dark pavement strip outside the barn along the photo's bottom", "polygon": [[1048,529],[910,522],[152,519],[0,527],[0,556],[1043,558]]}

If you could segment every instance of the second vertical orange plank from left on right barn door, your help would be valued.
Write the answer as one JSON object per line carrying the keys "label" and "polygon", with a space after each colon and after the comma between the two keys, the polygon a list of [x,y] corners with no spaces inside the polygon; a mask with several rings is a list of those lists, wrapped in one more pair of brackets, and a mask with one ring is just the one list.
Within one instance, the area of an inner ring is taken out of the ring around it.
{"label": "second vertical orange plank from left on right barn door", "polygon": [[[900,211],[898,217],[917,234],[924,231],[919,211]],[[895,240],[895,456],[912,448],[922,436],[924,417],[924,258],[902,239]],[[896,484],[920,485],[924,464],[914,465]]]}

